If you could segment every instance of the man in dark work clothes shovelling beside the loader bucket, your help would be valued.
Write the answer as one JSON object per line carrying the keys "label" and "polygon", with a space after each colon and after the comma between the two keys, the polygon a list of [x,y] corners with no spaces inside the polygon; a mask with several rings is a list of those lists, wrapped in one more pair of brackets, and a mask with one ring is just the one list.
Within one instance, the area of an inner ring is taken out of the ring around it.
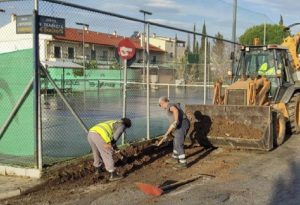
{"label": "man in dark work clothes shovelling beside the loader bucket", "polygon": [[170,103],[167,97],[159,98],[159,106],[166,110],[170,126],[163,139],[158,143],[158,145],[165,141],[167,139],[168,134],[172,132],[174,136],[173,154],[172,158],[167,160],[167,162],[176,163],[176,168],[186,168],[187,162],[184,153],[184,139],[190,128],[190,122],[187,119],[186,114],[180,108],[180,105]]}

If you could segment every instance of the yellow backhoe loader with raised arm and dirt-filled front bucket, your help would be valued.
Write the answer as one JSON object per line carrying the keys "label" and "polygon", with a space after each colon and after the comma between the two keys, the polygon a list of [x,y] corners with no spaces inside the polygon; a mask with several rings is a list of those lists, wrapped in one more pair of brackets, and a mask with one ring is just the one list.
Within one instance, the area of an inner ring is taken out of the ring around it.
{"label": "yellow backhoe loader with raised arm and dirt-filled front bucket", "polygon": [[190,137],[204,146],[268,151],[299,133],[299,36],[282,45],[242,46],[231,85],[214,85],[213,105],[185,106]]}

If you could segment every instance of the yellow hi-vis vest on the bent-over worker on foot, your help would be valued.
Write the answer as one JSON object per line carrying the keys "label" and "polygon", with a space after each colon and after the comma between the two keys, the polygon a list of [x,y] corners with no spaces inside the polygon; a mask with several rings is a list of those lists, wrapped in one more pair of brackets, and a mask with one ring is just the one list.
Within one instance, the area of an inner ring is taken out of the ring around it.
{"label": "yellow hi-vis vest on the bent-over worker on foot", "polygon": [[117,122],[116,120],[110,120],[106,122],[101,122],[90,129],[92,132],[98,133],[104,142],[110,143],[113,139],[113,124]]}

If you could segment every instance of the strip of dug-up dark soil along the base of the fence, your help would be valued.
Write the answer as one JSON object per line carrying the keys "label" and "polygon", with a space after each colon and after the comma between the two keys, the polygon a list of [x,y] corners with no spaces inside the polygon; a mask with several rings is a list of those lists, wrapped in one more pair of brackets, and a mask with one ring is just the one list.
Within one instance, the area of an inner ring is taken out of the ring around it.
{"label": "strip of dug-up dark soil along the base of the fence", "polygon": [[[151,163],[155,159],[170,153],[170,143],[167,143],[166,145],[167,146],[164,147],[156,147],[153,146],[153,143],[151,142],[144,142],[138,145],[130,145],[127,148],[116,152],[113,157],[117,172],[126,176],[142,166]],[[95,171],[93,159],[86,158],[56,170],[48,171],[48,173],[45,174],[45,178],[49,180],[49,186],[75,181],[76,183],[81,181],[80,185],[86,186],[95,183],[106,183],[108,173],[103,172],[96,175]]]}

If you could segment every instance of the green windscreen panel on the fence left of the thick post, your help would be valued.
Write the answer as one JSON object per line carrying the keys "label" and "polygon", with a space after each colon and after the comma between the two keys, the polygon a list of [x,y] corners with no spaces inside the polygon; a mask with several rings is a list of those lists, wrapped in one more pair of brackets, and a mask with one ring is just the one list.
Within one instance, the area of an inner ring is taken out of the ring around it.
{"label": "green windscreen panel on the fence left of the thick post", "polygon": [[[0,54],[0,126],[32,78],[33,50]],[[0,139],[0,163],[23,164],[34,161],[33,94],[29,96]]]}

